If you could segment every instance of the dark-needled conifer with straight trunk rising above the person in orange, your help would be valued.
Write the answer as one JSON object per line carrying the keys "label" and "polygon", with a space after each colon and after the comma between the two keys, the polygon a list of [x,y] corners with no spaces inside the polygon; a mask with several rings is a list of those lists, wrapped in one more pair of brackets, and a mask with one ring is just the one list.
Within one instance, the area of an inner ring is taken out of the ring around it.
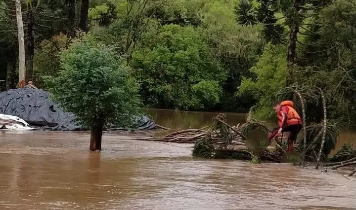
{"label": "dark-needled conifer with straight trunk rising above the person in orange", "polygon": [[[298,34],[308,35],[304,21],[318,14],[329,0],[241,0],[236,7],[238,22],[242,25],[262,24],[267,41],[283,43],[284,29],[288,29],[288,51],[286,54],[288,73],[286,84],[291,85],[298,74],[294,73]],[[277,18],[277,16],[281,16]],[[281,20],[278,22],[278,20]],[[305,30],[302,32],[302,30]]]}

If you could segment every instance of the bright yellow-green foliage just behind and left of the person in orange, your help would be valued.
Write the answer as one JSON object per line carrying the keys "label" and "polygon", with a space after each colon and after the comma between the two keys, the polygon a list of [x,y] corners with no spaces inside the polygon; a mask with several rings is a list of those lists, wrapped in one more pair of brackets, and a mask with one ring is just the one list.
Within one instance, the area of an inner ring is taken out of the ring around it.
{"label": "bright yellow-green foliage just behind and left of the person in orange", "polygon": [[256,114],[259,118],[270,117],[275,94],[285,86],[286,66],[285,46],[268,43],[260,60],[251,68],[257,79],[242,79],[237,95],[248,94],[258,100]]}

